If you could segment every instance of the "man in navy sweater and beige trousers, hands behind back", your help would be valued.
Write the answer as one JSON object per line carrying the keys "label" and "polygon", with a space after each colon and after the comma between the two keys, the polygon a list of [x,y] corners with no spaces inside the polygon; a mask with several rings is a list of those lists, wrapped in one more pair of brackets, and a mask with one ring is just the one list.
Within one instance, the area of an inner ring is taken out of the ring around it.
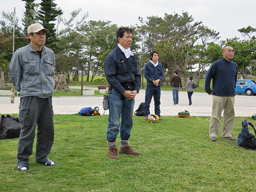
{"label": "man in navy sweater and beige trousers, hands behind back", "polygon": [[[232,61],[234,50],[230,46],[222,49],[223,58],[215,61],[205,77],[205,91],[213,95],[213,105],[209,136],[211,141],[217,141],[221,113],[224,110],[222,137],[235,141],[231,135],[234,124],[235,87],[237,83],[237,64]],[[212,79],[212,90],[210,88]]]}

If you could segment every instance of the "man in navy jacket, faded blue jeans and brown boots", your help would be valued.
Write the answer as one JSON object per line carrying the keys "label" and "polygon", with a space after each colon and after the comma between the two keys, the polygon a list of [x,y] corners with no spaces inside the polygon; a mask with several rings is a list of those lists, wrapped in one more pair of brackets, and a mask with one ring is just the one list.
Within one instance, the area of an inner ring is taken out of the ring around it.
{"label": "man in navy jacket, faded blue jeans and brown boots", "polygon": [[108,156],[111,159],[120,159],[116,147],[119,127],[121,139],[119,153],[139,154],[128,143],[133,125],[134,98],[139,93],[141,86],[141,74],[137,66],[137,56],[130,50],[132,33],[133,30],[126,27],[120,27],[117,30],[117,48],[109,53],[104,64],[105,76],[110,85],[107,139],[109,145]]}

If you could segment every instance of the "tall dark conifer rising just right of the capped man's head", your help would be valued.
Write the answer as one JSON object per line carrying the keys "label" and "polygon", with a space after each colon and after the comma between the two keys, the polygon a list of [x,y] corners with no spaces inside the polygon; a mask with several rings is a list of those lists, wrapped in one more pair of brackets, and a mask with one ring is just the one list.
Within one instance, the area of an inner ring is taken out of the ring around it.
{"label": "tall dark conifer rising just right of the capped man's head", "polygon": [[62,15],[63,12],[61,9],[56,8],[54,0],[42,0],[40,3],[41,11],[38,11],[38,19],[42,21],[42,25],[49,30],[49,33],[46,35],[45,45],[50,49],[56,50],[61,49],[57,47],[56,42],[59,41],[56,38],[56,29],[54,29],[55,24],[50,23],[56,20],[56,17]]}

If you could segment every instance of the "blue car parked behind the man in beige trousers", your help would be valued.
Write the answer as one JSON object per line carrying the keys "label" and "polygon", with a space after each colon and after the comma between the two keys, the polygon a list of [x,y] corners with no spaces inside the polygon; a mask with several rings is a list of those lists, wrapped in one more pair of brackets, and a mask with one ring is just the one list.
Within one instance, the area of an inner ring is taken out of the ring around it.
{"label": "blue car parked behind the man in beige trousers", "polygon": [[238,79],[236,93],[252,95],[256,93],[256,81],[252,79]]}

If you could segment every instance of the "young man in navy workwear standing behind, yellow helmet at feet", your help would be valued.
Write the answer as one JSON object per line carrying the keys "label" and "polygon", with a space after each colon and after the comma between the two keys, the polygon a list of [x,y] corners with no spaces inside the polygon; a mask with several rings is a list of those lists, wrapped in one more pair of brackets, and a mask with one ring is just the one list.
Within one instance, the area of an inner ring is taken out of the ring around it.
{"label": "young man in navy workwear standing behind, yellow helmet at feet", "polygon": [[144,67],[144,77],[147,79],[147,88],[143,109],[144,120],[147,120],[147,116],[150,114],[149,107],[153,96],[154,114],[158,115],[159,120],[163,120],[160,116],[160,82],[164,79],[164,70],[162,64],[158,63],[159,54],[157,51],[151,52],[150,57],[150,62],[148,62]]}

